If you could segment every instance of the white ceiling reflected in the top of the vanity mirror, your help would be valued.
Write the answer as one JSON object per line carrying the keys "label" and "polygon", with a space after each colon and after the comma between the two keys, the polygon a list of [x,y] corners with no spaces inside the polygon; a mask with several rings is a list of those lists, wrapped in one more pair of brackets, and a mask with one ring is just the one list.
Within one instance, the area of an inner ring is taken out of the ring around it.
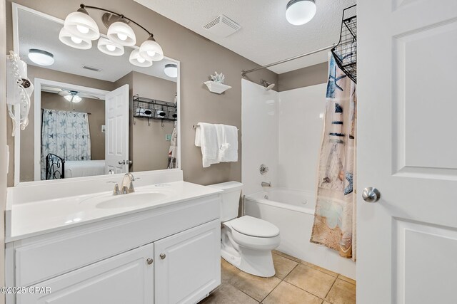
{"label": "white ceiling reflected in the top of the vanity mirror", "polygon": [[[114,82],[122,76],[135,70],[146,75],[156,76],[176,82],[176,78],[170,78],[164,73],[166,63],[173,63],[167,59],[154,62],[149,68],[140,68],[129,62],[131,48],[126,47],[123,56],[109,56],[101,53],[97,48],[97,41],[92,41],[92,48],[89,50],[79,50],[71,48],[59,41],[59,31],[61,23],[46,19],[44,16],[33,14],[29,11],[19,9],[19,56],[27,64],[36,65],[29,60],[27,54],[30,48],[39,48],[54,54],[54,64],[47,67],[52,70],[96,78]],[[101,71],[95,72],[81,68],[88,65],[100,68]],[[38,65],[40,66],[40,65]]]}

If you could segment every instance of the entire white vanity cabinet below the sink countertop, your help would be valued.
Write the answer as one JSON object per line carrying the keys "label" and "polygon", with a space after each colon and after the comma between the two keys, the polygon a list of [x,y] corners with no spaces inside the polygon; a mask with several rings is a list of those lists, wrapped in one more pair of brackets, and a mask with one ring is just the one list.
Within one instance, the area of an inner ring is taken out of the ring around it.
{"label": "entire white vanity cabinet below the sink countertop", "polygon": [[11,241],[6,285],[51,293],[6,303],[198,303],[221,283],[219,208],[212,194]]}

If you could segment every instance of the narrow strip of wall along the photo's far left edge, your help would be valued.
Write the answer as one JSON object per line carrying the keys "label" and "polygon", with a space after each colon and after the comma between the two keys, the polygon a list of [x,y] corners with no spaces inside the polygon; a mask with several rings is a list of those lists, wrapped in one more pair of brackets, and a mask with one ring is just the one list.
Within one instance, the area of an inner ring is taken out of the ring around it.
{"label": "narrow strip of wall along the photo's far left edge", "polygon": [[[6,54],[5,1],[0,2],[0,53]],[[0,61],[0,117],[6,117],[6,61]],[[5,285],[6,120],[0,119],[0,286]],[[5,295],[0,294],[0,304]]]}

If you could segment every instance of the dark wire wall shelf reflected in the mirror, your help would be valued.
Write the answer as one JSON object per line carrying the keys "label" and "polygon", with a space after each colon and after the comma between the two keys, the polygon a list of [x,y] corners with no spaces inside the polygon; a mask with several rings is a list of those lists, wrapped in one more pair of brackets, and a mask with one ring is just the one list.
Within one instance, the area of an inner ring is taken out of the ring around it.
{"label": "dark wire wall shelf reflected in the mirror", "polygon": [[155,100],[134,95],[134,117],[153,120],[177,120],[178,112],[175,103]]}

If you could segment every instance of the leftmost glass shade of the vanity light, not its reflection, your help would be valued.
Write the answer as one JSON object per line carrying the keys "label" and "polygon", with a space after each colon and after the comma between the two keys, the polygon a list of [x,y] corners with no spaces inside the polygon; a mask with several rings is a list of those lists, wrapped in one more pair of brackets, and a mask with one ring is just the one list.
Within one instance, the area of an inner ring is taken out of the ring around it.
{"label": "leftmost glass shade of the vanity light, not its reflection", "polygon": [[72,35],[89,40],[96,40],[100,37],[99,26],[84,8],[84,4],[78,11],[66,16],[64,28]]}

